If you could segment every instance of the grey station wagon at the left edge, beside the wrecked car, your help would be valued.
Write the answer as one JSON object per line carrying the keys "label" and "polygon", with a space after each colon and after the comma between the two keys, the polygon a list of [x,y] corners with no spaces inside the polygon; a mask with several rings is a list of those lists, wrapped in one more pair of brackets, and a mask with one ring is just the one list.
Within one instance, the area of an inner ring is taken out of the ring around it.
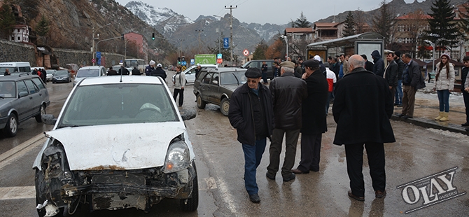
{"label": "grey station wagon at the left edge, beside the wrecked car", "polygon": [[42,122],[41,114],[49,106],[49,93],[37,75],[19,73],[0,77],[0,129],[15,137],[18,125],[29,118]]}

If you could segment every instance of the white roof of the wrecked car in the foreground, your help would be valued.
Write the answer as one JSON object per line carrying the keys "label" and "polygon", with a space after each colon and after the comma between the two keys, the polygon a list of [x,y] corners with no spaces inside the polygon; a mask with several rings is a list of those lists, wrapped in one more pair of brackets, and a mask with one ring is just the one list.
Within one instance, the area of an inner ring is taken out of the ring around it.
{"label": "white roof of the wrecked car in the foreground", "polygon": [[108,85],[118,83],[148,83],[161,85],[162,82],[158,76],[122,76],[122,82],[120,81],[121,76],[101,76],[94,78],[85,78],[79,86],[85,85]]}

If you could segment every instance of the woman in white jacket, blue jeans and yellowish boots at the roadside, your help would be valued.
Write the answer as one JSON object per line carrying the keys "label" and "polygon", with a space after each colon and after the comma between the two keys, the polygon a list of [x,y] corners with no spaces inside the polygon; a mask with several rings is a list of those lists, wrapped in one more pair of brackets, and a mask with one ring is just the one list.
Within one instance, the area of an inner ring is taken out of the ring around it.
{"label": "woman in white jacket, blue jeans and yellowish boots at the roadside", "polygon": [[435,120],[448,121],[449,115],[449,93],[454,89],[454,66],[449,63],[451,57],[443,53],[440,62],[436,64],[435,86],[433,91],[437,91],[438,102],[440,102],[440,114]]}

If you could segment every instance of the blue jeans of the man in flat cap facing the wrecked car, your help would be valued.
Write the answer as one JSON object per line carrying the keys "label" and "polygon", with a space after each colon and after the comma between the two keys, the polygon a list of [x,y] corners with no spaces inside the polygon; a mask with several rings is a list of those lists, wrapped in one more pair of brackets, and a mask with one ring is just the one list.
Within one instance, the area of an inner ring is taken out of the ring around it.
{"label": "blue jeans of the man in flat cap facing the wrecked car", "polygon": [[258,193],[258,183],[255,182],[255,170],[260,165],[262,154],[265,151],[266,139],[255,141],[255,146],[243,144],[244,151],[244,186],[249,195]]}

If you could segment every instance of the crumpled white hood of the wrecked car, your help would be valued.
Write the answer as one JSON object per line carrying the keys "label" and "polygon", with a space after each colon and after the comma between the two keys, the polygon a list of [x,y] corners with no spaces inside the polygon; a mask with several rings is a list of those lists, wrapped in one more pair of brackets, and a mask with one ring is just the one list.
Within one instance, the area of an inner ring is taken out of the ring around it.
{"label": "crumpled white hood of the wrecked car", "polygon": [[165,164],[169,143],[184,123],[65,127],[48,132],[64,146],[71,170],[144,169]]}

